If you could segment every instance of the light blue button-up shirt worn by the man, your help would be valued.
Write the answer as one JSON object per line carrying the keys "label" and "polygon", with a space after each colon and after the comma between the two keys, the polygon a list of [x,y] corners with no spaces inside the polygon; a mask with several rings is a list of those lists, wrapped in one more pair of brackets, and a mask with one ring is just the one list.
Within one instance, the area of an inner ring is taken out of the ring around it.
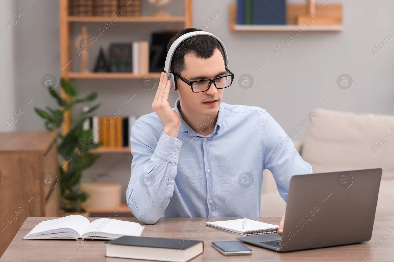
{"label": "light blue button-up shirt worn by the man", "polygon": [[[160,217],[258,217],[263,170],[269,169],[284,201],[290,178],[310,174],[293,142],[257,106],[221,103],[214,132],[203,136],[178,110],[178,138],[163,132],[153,112],[132,126],[128,207],[145,224]],[[202,130],[213,117],[200,126]]]}

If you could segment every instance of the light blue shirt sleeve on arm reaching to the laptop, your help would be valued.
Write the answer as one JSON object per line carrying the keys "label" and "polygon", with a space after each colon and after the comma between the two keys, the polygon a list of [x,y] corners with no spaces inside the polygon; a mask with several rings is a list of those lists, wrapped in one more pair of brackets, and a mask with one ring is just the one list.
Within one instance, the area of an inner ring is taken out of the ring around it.
{"label": "light blue shirt sleeve on arm reaching to the laptop", "polygon": [[268,112],[263,114],[263,134],[263,169],[271,171],[279,194],[287,202],[290,178],[293,175],[311,174],[312,167],[301,158],[290,137]]}

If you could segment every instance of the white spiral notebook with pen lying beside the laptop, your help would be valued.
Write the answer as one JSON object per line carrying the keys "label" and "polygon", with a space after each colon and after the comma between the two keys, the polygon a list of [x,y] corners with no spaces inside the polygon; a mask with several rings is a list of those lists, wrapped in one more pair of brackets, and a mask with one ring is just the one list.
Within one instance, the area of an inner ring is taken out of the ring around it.
{"label": "white spiral notebook with pen lying beside the laptop", "polygon": [[244,218],[216,222],[205,222],[205,224],[242,236],[276,233],[279,229],[279,225],[267,224],[251,219],[247,219],[245,228],[243,228],[243,220]]}

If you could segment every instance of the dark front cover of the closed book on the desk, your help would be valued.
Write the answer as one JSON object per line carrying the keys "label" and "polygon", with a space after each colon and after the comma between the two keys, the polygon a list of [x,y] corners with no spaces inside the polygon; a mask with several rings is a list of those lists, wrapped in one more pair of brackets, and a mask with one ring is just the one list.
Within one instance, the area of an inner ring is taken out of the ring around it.
{"label": "dark front cover of the closed book on the desk", "polygon": [[172,238],[155,238],[144,236],[121,236],[115,240],[108,240],[106,244],[138,246],[138,247],[157,247],[169,249],[188,249],[202,241],[199,240],[184,240]]}

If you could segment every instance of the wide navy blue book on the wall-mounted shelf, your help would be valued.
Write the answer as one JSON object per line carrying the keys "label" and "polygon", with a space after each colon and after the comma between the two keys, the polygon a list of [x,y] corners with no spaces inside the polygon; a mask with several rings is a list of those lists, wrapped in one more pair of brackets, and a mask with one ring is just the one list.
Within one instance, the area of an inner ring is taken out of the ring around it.
{"label": "wide navy blue book on the wall-mounted shelf", "polygon": [[286,0],[253,0],[252,24],[286,24]]}

